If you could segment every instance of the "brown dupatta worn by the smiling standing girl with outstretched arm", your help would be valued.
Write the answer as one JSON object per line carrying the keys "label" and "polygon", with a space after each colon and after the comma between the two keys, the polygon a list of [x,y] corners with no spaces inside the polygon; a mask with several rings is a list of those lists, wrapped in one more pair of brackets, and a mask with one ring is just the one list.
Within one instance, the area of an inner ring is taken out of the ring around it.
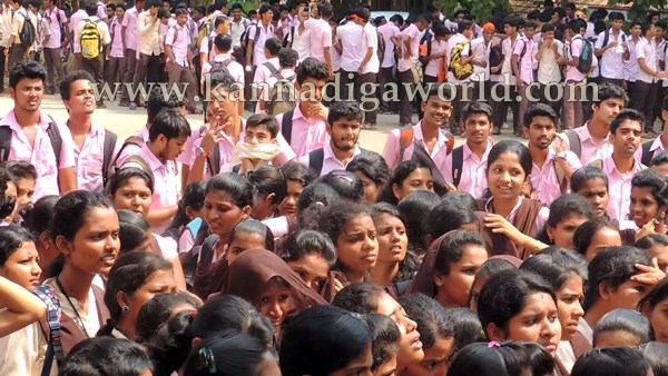
{"label": "brown dupatta worn by the smiling standing girl with outstretched arm", "polygon": [[[511,222],[520,232],[533,236],[536,232],[536,219],[540,209],[544,207],[544,205],[540,201],[522,198],[521,204],[518,208],[515,217]],[[482,237],[488,244],[488,248],[491,250],[490,256],[495,255],[510,255],[518,257],[522,260],[528,259],[532,253],[524,247],[518,247],[514,243],[512,243],[505,235],[494,234],[491,229],[484,227],[484,217],[488,215],[484,211],[484,206],[487,204],[487,199],[479,199],[478,205],[483,211],[475,211],[475,216],[480,221],[480,228]]]}

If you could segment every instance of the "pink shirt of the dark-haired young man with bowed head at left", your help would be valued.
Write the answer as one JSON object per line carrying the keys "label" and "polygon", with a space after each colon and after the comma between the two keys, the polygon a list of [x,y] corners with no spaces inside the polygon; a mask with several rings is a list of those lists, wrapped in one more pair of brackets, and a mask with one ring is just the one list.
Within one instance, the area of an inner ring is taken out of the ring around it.
{"label": "pink shirt of the dark-haired young man with bowed head at left", "polygon": [[[139,157],[141,157],[154,175],[154,195],[150,202],[151,209],[165,209],[170,206],[177,205],[179,199],[178,192],[178,169],[174,160],[168,160],[163,164],[158,158],[148,149],[147,145],[144,145],[139,150]],[[128,162],[126,167],[141,168],[140,165]],[[169,220],[158,226],[153,226],[150,229],[154,232],[163,234],[167,227],[169,227]],[[175,247],[176,248],[176,247]]]}

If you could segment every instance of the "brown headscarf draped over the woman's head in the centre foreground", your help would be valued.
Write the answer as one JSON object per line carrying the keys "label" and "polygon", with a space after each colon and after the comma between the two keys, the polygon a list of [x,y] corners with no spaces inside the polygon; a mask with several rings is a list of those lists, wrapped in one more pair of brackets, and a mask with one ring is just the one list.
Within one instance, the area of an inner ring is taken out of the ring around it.
{"label": "brown headscarf draped over the woman's head in the centre foreground", "polygon": [[274,277],[281,277],[292,287],[292,305],[301,311],[313,305],[327,301],[294,273],[278,255],[266,249],[248,249],[232,263],[227,270],[227,280],[220,289],[222,295],[239,296],[257,306],[266,290],[266,284]]}

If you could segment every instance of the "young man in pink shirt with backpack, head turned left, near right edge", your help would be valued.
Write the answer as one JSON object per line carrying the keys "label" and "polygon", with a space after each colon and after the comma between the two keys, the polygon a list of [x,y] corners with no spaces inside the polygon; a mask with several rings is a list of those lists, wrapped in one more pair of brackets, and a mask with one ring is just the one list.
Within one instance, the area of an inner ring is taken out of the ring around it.
{"label": "young man in pink shirt with backpack, head turned left, near right edge", "polygon": [[610,142],[610,122],[628,103],[622,88],[603,83],[598,87],[598,101],[591,105],[591,120],[582,127],[564,132],[564,141],[569,150],[580,158],[582,165],[595,159],[603,159],[612,154]]}

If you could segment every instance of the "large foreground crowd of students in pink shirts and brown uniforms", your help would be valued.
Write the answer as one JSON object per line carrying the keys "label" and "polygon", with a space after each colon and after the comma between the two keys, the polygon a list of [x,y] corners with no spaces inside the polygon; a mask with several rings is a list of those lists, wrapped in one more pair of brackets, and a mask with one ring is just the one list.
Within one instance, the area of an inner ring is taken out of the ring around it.
{"label": "large foreground crowd of students in pink shirts and brown uniforms", "polygon": [[126,140],[99,125],[94,75],[58,80],[57,119],[47,70],[16,62],[0,374],[666,374],[668,127],[642,144],[621,82],[563,133],[553,102],[530,103],[524,146],[493,139],[505,109],[436,80],[377,154],[357,101],[323,103],[326,55],[297,58],[304,95],[281,113],[244,118],[238,79],[213,65],[204,125],[154,88]]}

